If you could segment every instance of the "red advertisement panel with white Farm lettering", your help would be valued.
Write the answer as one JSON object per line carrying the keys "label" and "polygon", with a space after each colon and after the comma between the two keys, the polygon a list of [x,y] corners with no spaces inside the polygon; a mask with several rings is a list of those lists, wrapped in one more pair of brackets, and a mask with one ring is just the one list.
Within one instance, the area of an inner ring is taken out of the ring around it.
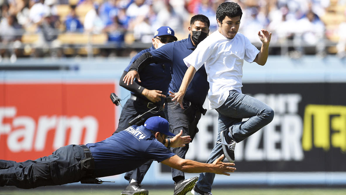
{"label": "red advertisement panel with white Farm lettering", "polygon": [[37,159],[114,132],[114,83],[0,84],[0,159]]}

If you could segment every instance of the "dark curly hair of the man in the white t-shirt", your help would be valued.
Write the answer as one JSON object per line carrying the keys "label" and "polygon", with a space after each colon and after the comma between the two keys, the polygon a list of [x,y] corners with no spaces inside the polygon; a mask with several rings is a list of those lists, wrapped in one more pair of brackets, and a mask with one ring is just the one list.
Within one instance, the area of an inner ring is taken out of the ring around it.
{"label": "dark curly hair of the man in the white t-shirt", "polygon": [[222,23],[222,20],[228,16],[229,18],[240,16],[242,19],[243,11],[242,8],[235,2],[224,2],[221,3],[216,10],[216,19]]}

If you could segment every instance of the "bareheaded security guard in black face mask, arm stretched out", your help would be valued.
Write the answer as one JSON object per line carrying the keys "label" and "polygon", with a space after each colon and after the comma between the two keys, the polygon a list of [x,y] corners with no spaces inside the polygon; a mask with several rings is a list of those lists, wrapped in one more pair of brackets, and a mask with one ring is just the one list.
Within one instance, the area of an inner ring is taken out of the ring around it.
{"label": "bareheaded security guard in black face mask, arm stretched out", "polygon": [[[209,33],[210,22],[208,17],[204,15],[195,15],[190,20],[189,37],[187,39],[168,43],[159,49],[142,54],[130,67],[130,71],[124,77],[127,84],[133,84],[134,78],[140,80],[142,75],[140,71],[149,63],[172,63],[172,81],[169,91],[177,92],[181,85],[182,79],[188,67],[183,62],[183,58],[188,56],[197,47],[198,43],[204,40]],[[138,75],[139,73],[139,75]],[[171,132],[174,134],[183,130],[183,135],[190,135],[191,138],[198,132],[197,124],[201,118],[201,114],[205,114],[206,110],[202,108],[204,100],[208,94],[209,83],[207,81],[207,73],[202,66],[193,77],[191,84],[186,90],[183,99],[183,107],[174,102],[167,103],[166,119],[170,122]],[[189,149],[186,145],[184,148],[172,149],[172,152],[185,158]],[[175,184],[181,183],[185,176],[184,172],[172,169],[172,178]],[[175,192],[174,195],[179,192]]]}

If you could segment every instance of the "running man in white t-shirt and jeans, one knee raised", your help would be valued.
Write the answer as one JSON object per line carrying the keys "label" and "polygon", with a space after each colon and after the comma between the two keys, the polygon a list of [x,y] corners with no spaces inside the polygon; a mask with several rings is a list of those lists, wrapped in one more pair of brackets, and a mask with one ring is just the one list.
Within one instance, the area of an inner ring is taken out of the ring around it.
{"label": "running man in white t-shirt and jeans, one knee raised", "polygon": [[[263,66],[268,58],[272,35],[263,28],[258,31],[258,37],[262,41],[259,51],[243,34],[237,33],[242,14],[237,3],[225,2],[218,6],[216,18],[219,29],[183,59],[189,68],[179,91],[170,92],[172,100],[182,106],[186,88],[195,72],[204,64],[210,87],[209,109],[216,109],[219,113],[217,143],[207,163],[212,163],[223,153],[230,162],[234,162],[235,144],[269,124],[274,117],[274,111],[268,105],[242,94],[244,60]],[[242,121],[243,118],[249,119]],[[214,177],[213,173],[201,173],[192,194],[210,195]]]}

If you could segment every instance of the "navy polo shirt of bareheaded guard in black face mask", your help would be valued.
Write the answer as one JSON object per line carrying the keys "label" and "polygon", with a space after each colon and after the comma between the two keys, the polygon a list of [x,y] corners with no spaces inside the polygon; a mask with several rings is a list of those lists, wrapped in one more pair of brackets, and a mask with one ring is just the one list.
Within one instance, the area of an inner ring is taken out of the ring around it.
{"label": "navy polo shirt of bareheaded guard in black face mask", "polygon": [[[171,92],[178,92],[181,82],[184,78],[185,72],[188,67],[185,65],[183,59],[193,52],[194,46],[190,39],[175,41],[167,43],[161,48],[150,51],[154,59],[160,63],[171,62],[172,81],[169,86]],[[141,78],[142,79],[142,78]],[[202,106],[206,100],[209,90],[209,83],[207,81],[207,73],[204,65],[198,69],[194,75],[190,85],[188,86],[184,100],[190,101],[192,104]]]}

